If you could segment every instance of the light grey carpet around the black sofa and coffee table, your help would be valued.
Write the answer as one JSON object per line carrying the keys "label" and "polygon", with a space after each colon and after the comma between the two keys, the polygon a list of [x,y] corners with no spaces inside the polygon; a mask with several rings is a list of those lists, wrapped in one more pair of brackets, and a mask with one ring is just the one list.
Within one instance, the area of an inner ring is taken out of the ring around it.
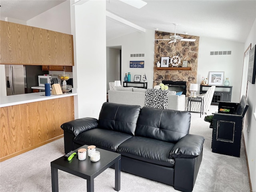
{"label": "light grey carpet around the black sofa and coffee table", "polygon": [[[211,106],[210,112],[217,111]],[[204,116],[192,113],[190,134],[205,137],[203,160],[193,192],[250,192],[243,141],[240,158],[212,153],[212,129]],[[50,162],[64,155],[59,139],[0,163],[0,191],[50,192]],[[60,192],[86,191],[86,180],[58,171]],[[114,192],[114,169],[94,179],[95,192]],[[172,186],[121,172],[120,192],[176,192]]]}

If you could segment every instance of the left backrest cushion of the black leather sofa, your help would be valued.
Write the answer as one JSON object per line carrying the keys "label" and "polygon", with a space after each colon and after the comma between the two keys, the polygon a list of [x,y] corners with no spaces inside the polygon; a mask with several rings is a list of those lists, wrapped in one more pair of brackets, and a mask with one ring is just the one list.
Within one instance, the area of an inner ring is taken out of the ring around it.
{"label": "left backrest cushion of the black leather sofa", "polygon": [[100,110],[98,128],[134,135],[141,107],[105,102]]}

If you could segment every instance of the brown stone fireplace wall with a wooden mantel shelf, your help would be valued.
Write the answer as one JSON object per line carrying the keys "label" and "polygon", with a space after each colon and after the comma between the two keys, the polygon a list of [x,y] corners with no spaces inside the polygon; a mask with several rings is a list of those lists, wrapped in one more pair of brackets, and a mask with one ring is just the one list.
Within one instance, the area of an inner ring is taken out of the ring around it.
{"label": "brown stone fireplace wall with a wooden mantel shelf", "polygon": [[[155,39],[168,39],[169,36],[171,35],[173,35],[173,33],[156,31]],[[197,79],[199,37],[183,35],[183,34],[180,34],[180,36],[184,38],[196,39],[196,41],[195,42],[177,41],[171,44],[168,44],[169,42],[168,40],[155,41],[153,86],[159,85],[164,81],[186,82],[186,86],[183,87],[183,88],[186,88],[186,93],[184,94],[186,94],[186,96],[190,96],[190,90],[189,90],[190,83],[196,83],[196,79]],[[168,68],[157,68],[156,62],[158,61],[161,62],[161,57],[172,58],[173,56],[179,56],[181,58],[180,64],[178,66],[172,67],[172,65],[169,64]],[[183,61],[188,61],[188,64],[190,66],[189,69],[182,67]],[[171,89],[173,89],[174,87],[175,86],[170,86]]]}

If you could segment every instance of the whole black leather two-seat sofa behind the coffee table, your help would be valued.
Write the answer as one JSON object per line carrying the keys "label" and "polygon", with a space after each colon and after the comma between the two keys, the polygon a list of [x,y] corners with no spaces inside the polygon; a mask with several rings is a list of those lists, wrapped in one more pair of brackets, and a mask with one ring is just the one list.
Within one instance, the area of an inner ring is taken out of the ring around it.
{"label": "whole black leather two-seat sofa behind the coffee table", "polygon": [[191,192],[204,138],[189,134],[190,112],[104,103],[99,119],[61,125],[65,153],[83,145],[118,152],[121,170]]}

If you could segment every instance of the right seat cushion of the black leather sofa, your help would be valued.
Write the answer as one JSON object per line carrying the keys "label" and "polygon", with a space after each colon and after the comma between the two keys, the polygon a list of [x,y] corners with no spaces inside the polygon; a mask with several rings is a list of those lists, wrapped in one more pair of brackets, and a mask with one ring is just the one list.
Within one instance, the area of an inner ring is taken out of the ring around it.
{"label": "right seat cushion of the black leather sofa", "polygon": [[174,167],[174,160],[169,158],[173,143],[134,136],[118,146],[117,152],[144,162]]}

